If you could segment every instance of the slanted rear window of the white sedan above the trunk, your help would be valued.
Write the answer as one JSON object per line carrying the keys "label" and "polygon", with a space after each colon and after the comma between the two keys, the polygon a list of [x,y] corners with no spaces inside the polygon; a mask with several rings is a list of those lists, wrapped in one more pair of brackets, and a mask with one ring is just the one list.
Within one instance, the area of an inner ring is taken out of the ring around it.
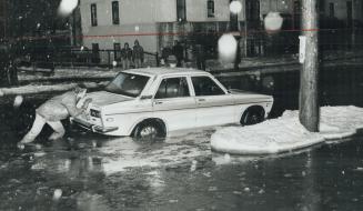
{"label": "slanted rear window of the white sedan above the trunk", "polygon": [[105,91],[134,98],[140,96],[149,79],[145,76],[120,72],[105,87]]}

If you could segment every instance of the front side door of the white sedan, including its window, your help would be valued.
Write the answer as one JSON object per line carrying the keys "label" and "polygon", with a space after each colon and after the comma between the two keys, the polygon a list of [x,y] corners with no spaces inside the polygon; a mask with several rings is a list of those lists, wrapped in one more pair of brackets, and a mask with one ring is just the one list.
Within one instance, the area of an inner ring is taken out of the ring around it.
{"label": "front side door of the white sedan, including its window", "polygon": [[191,77],[198,105],[196,125],[218,125],[234,121],[234,99],[209,76]]}

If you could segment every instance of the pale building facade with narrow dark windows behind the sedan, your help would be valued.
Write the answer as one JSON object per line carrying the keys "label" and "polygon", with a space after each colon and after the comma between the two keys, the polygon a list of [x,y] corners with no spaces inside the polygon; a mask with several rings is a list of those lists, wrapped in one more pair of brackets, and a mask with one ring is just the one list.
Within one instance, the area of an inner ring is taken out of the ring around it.
{"label": "pale building facade with narrow dark windows behind the sedan", "polygon": [[[242,0],[241,0],[242,2]],[[81,0],[83,44],[114,49],[135,39],[149,52],[191,32],[226,31],[229,0]],[[238,21],[243,21],[243,12]]]}

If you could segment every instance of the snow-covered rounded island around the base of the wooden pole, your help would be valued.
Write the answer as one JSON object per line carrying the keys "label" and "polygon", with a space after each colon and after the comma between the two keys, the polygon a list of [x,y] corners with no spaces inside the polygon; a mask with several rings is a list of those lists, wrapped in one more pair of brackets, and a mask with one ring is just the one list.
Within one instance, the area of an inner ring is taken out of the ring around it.
{"label": "snow-covered rounded island around the base of the wooden pole", "polygon": [[303,149],[332,139],[342,139],[363,128],[363,108],[321,108],[320,132],[312,133],[299,122],[298,111],[250,127],[228,127],[211,138],[215,151],[238,154],[270,154]]}

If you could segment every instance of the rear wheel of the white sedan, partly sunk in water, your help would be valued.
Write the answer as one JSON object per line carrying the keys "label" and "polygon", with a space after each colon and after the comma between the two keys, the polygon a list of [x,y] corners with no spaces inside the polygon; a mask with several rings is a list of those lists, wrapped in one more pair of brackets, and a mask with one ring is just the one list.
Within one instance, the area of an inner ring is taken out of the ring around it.
{"label": "rear wheel of the white sedan, partly sunk in water", "polygon": [[160,123],[154,121],[141,122],[134,130],[133,137],[139,140],[155,140],[165,137]]}

